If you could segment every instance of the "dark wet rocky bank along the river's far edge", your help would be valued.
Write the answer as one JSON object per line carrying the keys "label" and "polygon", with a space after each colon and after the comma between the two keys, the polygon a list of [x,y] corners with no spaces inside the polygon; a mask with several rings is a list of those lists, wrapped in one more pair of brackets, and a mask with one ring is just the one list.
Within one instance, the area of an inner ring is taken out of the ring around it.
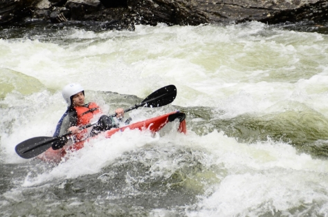
{"label": "dark wet rocky bank along the river's far edge", "polygon": [[[58,10],[58,8],[64,8]],[[48,10],[48,11],[46,11]],[[52,22],[101,21],[119,28],[135,23],[155,26],[328,19],[325,0],[0,0],[0,25],[24,17]]]}

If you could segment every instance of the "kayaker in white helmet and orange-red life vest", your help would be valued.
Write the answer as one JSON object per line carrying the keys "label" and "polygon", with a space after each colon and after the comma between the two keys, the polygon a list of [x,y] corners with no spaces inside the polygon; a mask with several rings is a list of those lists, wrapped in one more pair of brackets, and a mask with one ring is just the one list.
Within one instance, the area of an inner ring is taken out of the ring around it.
{"label": "kayaker in white helmet and orange-red life vest", "polygon": [[[59,142],[53,144],[54,150],[64,147],[70,138],[73,139],[74,142],[79,142],[85,140],[90,135],[96,135],[101,131],[107,131],[113,127],[118,127],[118,123],[113,120],[113,117],[102,115],[97,124],[93,126],[91,133],[88,133],[87,129],[79,131],[81,126],[89,124],[94,115],[100,115],[102,111],[95,102],[84,103],[84,88],[82,88],[80,84],[66,85],[62,90],[62,96],[68,108],[64,115],[62,115],[62,118],[60,118],[53,137],[63,135],[69,131],[72,132],[72,135],[61,138]],[[124,117],[124,110],[118,108],[115,110],[115,113],[118,120],[122,120]]]}

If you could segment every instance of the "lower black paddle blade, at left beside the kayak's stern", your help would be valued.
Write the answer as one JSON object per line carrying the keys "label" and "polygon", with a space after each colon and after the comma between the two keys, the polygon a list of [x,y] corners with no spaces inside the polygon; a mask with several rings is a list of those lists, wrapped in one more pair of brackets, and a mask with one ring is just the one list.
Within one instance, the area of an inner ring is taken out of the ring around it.
{"label": "lower black paddle blade, at left beside the kayak's stern", "polygon": [[30,138],[17,144],[15,150],[21,158],[30,159],[49,149],[57,140],[57,137],[47,136]]}

